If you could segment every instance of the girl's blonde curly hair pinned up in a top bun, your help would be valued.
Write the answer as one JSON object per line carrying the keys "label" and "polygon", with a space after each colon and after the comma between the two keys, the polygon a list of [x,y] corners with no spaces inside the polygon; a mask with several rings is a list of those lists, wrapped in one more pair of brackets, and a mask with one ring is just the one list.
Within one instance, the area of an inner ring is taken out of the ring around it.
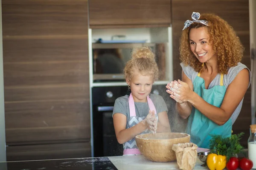
{"label": "girl's blonde curly hair pinned up in a top bun", "polygon": [[154,53],[148,47],[135,48],[131,53],[131,59],[124,68],[125,79],[131,81],[134,72],[139,71],[143,75],[151,75],[153,81],[158,78],[159,70],[154,60]]}

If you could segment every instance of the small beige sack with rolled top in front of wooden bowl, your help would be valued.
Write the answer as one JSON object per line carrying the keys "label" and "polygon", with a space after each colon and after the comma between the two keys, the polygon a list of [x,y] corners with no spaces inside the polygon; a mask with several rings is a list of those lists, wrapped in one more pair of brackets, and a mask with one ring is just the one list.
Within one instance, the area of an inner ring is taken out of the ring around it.
{"label": "small beige sack with rolled top in front of wooden bowl", "polygon": [[172,150],[175,151],[177,164],[181,170],[192,170],[197,159],[198,146],[194,143],[173,144]]}

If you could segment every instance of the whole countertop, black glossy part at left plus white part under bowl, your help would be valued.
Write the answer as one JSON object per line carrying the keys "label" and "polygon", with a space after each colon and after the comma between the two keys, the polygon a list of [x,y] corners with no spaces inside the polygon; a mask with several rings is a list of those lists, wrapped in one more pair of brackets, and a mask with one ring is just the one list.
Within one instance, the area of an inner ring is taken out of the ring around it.
{"label": "whole countertop, black glossy part at left plus white part under bowl", "polygon": [[[199,159],[195,170],[202,167]],[[0,170],[179,170],[177,162],[149,161],[142,155],[0,162]]]}

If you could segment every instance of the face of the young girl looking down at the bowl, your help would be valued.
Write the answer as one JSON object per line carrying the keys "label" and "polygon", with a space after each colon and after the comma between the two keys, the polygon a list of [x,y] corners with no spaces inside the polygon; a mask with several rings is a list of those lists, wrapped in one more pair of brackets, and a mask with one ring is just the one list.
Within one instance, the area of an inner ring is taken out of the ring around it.
{"label": "face of the young girl looking down at the bowl", "polygon": [[147,102],[147,96],[150,94],[154,82],[153,76],[144,76],[139,71],[134,71],[132,79],[126,82],[130,85],[134,102]]}

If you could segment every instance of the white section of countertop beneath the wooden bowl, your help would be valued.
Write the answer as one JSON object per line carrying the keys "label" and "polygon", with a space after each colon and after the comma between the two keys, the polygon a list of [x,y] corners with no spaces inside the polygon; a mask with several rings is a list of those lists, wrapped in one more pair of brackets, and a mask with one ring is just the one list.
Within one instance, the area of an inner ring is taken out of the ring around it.
{"label": "white section of countertop beneath the wooden bowl", "polygon": [[[108,159],[118,170],[179,170],[176,161],[154,162],[143,155],[110,156]],[[207,167],[201,166],[202,164],[204,163],[197,159],[194,170],[207,170]]]}

